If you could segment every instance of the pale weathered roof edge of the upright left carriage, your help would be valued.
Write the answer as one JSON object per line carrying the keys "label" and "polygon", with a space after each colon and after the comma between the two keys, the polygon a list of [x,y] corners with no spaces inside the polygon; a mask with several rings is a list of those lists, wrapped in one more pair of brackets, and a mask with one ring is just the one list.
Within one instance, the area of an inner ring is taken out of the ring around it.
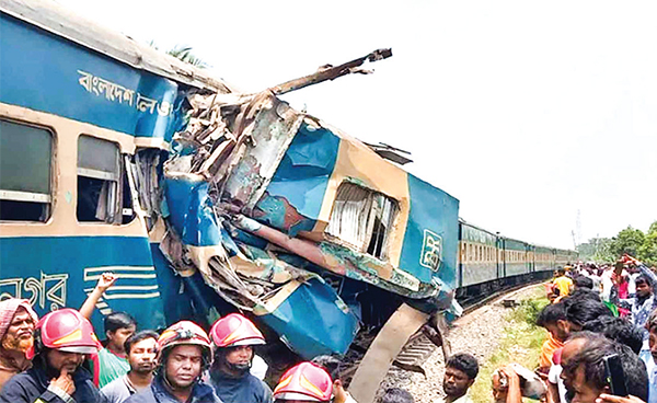
{"label": "pale weathered roof edge of the upright left carriage", "polygon": [[198,89],[229,93],[235,89],[207,71],[84,19],[51,0],[0,0],[0,11],[72,41],[138,70]]}

